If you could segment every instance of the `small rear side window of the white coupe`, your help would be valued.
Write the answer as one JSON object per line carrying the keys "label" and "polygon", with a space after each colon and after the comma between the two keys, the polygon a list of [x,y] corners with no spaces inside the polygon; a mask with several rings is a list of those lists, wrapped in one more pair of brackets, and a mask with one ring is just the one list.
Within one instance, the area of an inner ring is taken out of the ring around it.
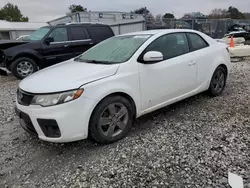
{"label": "small rear side window of the white coupe", "polygon": [[190,40],[191,50],[196,51],[202,48],[208,47],[207,42],[198,34],[188,33],[187,34]]}

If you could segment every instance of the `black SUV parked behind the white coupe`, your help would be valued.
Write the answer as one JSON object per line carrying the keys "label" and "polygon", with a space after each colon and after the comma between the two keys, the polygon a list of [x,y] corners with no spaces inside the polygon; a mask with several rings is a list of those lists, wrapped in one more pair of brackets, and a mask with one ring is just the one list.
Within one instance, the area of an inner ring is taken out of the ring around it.
{"label": "black SUV parked behind the white coupe", "polygon": [[71,23],[46,26],[28,41],[0,41],[0,67],[23,79],[39,69],[74,58],[114,36],[108,25]]}

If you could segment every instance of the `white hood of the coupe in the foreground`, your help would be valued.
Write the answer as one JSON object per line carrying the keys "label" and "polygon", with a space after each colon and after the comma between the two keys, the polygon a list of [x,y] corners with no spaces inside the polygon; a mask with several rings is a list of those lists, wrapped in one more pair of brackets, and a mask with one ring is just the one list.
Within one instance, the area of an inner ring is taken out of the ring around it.
{"label": "white hood of the coupe in the foreground", "polygon": [[23,91],[42,94],[66,91],[114,75],[119,64],[92,64],[73,59],[38,71],[22,80]]}

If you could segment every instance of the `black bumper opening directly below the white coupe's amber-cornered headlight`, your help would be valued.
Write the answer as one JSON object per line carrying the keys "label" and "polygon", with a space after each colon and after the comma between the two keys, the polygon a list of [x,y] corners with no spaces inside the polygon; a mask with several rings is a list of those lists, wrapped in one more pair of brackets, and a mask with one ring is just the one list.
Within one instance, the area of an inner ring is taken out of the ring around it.
{"label": "black bumper opening directly below the white coupe's amber-cornered headlight", "polygon": [[49,138],[61,137],[61,131],[58,127],[56,120],[53,119],[37,119],[44,135]]}

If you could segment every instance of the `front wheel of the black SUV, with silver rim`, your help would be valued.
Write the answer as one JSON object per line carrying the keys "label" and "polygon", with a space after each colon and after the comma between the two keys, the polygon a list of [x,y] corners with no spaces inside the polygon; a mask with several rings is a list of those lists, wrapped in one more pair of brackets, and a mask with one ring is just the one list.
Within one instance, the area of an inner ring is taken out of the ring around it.
{"label": "front wheel of the black SUV, with silver rim", "polygon": [[33,59],[20,57],[10,65],[12,74],[18,79],[24,79],[38,70],[38,66]]}

